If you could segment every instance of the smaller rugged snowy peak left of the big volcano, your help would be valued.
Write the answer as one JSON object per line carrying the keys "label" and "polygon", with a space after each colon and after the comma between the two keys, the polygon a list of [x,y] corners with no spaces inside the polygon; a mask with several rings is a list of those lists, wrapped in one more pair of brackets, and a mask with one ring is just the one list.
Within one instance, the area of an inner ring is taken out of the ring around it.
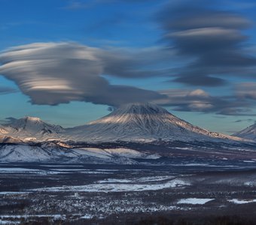
{"label": "smaller rugged snowy peak left of the big volcano", "polygon": [[40,118],[26,116],[15,119],[9,124],[2,125],[5,134],[24,140],[44,140],[62,132],[62,127],[48,124]]}

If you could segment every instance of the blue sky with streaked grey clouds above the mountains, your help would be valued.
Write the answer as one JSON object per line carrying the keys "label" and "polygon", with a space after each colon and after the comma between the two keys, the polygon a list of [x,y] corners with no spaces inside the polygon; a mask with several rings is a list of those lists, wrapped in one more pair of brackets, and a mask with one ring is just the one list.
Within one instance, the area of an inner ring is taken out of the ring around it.
{"label": "blue sky with streaked grey clouds above the mountains", "polygon": [[254,1],[0,0],[0,119],[72,127],[153,102],[209,130],[256,120]]}

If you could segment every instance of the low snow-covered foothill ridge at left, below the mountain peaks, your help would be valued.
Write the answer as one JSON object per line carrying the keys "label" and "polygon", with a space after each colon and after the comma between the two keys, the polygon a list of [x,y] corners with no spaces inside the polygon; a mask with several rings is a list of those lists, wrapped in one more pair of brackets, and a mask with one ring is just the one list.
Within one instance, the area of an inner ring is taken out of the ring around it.
{"label": "low snow-covered foothill ridge at left, below the mountain peaks", "polygon": [[55,160],[87,160],[99,163],[136,163],[130,158],[157,159],[157,154],[145,154],[130,148],[64,148],[54,143],[0,146],[0,162],[47,162]]}

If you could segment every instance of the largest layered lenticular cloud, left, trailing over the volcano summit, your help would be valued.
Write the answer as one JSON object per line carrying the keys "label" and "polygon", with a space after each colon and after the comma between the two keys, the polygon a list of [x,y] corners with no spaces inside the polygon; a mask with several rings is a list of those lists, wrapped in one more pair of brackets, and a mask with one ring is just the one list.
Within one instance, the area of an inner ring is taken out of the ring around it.
{"label": "largest layered lenticular cloud, left, trailing over the volcano summit", "polygon": [[89,101],[117,106],[164,98],[157,92],[109,84],[102,74],[114,66],[111,58],[113,52],[77,43],[32,43],[0,53],[0,73],[17,83],[32,104]]}

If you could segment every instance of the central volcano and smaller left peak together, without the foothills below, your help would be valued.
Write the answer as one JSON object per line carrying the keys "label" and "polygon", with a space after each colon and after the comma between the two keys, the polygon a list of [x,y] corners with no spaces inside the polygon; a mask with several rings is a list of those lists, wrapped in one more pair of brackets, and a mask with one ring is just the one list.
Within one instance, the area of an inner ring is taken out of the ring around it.
{"label": "central volcano and smaller left peak together, without the foothills below", "polygon": [[[242,136],[243,137],[243,136]],[[242,138],[194,126],[154,104],[127,104],[78,127],[63,128],[40,118],[25,117],[2,124],[2,142],[152,142],[242,141]]]}

